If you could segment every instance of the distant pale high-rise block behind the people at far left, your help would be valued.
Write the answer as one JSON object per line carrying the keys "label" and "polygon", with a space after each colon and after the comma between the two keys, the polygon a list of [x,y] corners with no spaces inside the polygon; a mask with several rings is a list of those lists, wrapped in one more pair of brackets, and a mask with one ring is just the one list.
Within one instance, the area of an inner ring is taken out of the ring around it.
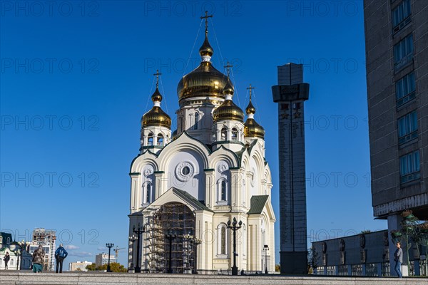
{"label": "distant pale high-rise block behind the people at far left", "polygon": [[56,232],[54,230],[36,228],[33,231],[33,240],[29,247],[29,253],[33,254],[39,247],[43,246],[46,254],[44,259],[44,271],[55,270]]}

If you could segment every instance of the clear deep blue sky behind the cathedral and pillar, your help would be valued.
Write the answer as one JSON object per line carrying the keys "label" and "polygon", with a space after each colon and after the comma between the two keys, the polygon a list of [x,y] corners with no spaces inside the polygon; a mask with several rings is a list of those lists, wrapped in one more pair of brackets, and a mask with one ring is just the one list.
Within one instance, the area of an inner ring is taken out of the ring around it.
{"label": "clear deep blue sky behind the cathedral and pillar", "polygon": [[[163,110],[175,125],[177,84],[199,63],[205,10],[214,14],[215,67],[235,66],[235,103],[245,108],[246,88],[255,86],[277,218],[270,87],[276,66],[291,61],[305,65],[310,83],[309,242],[386,228],[372,217],[362,1],[50,3],[0,6],[1,231],[28,239],[35,227],[56,229],[70,246],[66,261],[94,261],[106,242],[127,246],[128,172],[153,73],[161,70]],[[126,251],[119,261],[126,264]]]}

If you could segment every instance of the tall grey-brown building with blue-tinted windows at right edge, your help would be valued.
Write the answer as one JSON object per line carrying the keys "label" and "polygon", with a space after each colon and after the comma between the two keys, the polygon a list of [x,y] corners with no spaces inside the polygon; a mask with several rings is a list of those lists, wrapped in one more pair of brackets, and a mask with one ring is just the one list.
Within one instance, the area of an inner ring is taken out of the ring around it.
{"label": "tall grey-brown building with blue-tinted windows at right edge", "polygon": [[372,206],[391,232],[404,209],[428,219],[428,1],[365,0],[364,13]]}

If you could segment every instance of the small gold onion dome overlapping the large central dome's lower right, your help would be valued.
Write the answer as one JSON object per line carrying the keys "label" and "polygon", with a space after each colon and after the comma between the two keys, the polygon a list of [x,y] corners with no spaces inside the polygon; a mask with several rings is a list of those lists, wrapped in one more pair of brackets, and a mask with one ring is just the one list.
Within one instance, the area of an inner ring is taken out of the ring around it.
{"label": "small gold onion dome overlapping the large central dome's lower right", "polygon": [[219,120],[239,120],[240,122],[244,121],[243,110],[233,103],[233,92],[233,85],[228,82],[223,90],[223,95],[225,95],[226,100],[213,112],[214,122]]}

